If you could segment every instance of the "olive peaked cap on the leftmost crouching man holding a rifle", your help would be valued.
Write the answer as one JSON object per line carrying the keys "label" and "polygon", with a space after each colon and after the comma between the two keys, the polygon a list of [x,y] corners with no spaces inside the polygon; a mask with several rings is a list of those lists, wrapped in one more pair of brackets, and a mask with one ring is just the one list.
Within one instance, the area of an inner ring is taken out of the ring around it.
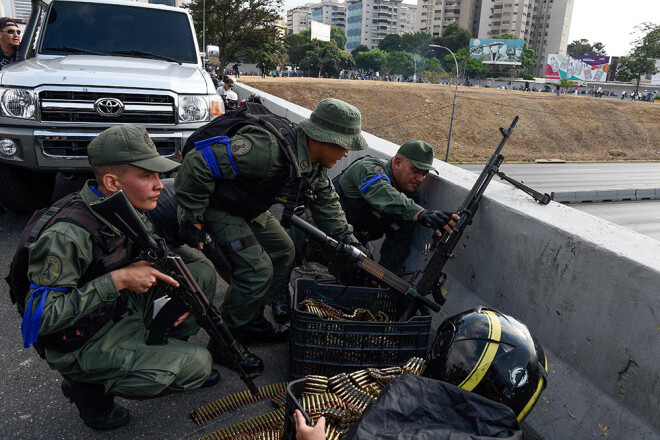
{"label": "olive peaked cap on the leftmost crouching man holding a rifle", "polygon": [[139,125],[118,125],[101,132],[87,146],[87,156],[92,166],[130,164],[157,173],[180,165],[158,154],[147,130]]}

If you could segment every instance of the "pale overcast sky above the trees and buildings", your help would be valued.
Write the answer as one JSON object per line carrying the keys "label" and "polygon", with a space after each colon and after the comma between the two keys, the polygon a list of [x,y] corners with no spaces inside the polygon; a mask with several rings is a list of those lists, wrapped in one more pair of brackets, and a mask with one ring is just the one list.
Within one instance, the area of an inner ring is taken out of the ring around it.
{"label": "pale overcast sky above the trees and buildings", "polygon": [[[316,0],[284,0],[284,9],[305,3]],[[625,55],[635,39],[630,35],[635,26],[648,21],[660,24],[660,0],[575,0],[568,42],[582,38],[600,41],[608,55]]]}

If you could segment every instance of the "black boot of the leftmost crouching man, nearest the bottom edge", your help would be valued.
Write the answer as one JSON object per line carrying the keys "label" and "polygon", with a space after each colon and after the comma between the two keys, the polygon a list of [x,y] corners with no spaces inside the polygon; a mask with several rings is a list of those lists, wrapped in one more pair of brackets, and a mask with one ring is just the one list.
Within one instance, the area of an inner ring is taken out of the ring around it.
{"label": "black boot of the leftmost crouching man, nearest the bottom edge", "polygon": [[83,423],[96,430],[121,428],[131,416],[126,408],[115,404],[115,398],[105,394],[103,385],[62,380],[62,394],[76,404]]}

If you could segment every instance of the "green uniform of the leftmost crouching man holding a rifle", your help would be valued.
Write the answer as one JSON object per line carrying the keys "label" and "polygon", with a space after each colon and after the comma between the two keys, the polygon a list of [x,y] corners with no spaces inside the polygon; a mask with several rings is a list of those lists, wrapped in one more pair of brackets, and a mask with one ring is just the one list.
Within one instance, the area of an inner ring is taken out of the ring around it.
{"label": "green uniform of the leftmost crouching man holding a rifle", "polygon": [[[98,199],[90,189],[90,182],[76,197],[87,206]],[[139,215],[151,231],[151,224],[144,214],[140,212]],[[119,297],[120,292],[110,273],[78,286],[78,280],[91,260],[89,232],[67,221],[55,223],[32,245],[28,270],[30,282],[71,289],[67,293],[48,292],[40,335],[70,327],[81,316]],[[205,295],[212,300],[216,287],[215,271],[205,263],[192,263],[188,268]],[[158,290],[152,288],[143,294],[125,291],[122,295],[128,296],[128,307],[121,319],[110,321],[73,352],[46,348],[50,367],[69,380],[103,384],[106,393],[127,398],[150,398],[189,390],[204,383],[211,371],[211,355],[203,347],[180,340],[199,330],[194,319],[190,317],[173,329],[167,345],[146,345]],[[35,299],[33,306],[36,304]]]}

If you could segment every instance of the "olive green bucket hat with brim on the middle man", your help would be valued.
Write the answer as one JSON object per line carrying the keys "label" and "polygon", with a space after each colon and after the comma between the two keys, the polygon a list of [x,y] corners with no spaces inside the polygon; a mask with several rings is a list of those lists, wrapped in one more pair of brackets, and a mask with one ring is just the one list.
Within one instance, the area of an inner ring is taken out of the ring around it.
{"label": "olive green bucket hat with brim on the middle man", "polygon": [[360,110],[339,99],[325,98],[316,105],[309,119],[303,119],[299,125],[307,136],[319,142],[351,151],[367,148],[367,141],[360,134]]}

